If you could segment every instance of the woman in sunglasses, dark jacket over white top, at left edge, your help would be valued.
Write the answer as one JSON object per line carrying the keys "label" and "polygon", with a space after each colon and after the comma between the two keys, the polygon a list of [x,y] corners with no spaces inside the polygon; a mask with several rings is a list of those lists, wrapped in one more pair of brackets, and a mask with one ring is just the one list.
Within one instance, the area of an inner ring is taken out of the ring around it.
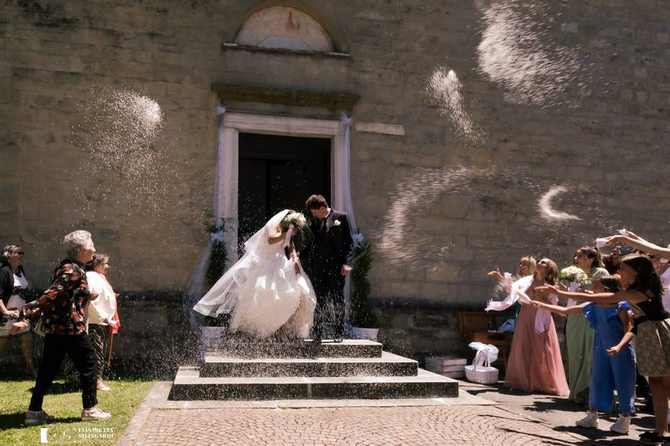
{"label": "woman in sunglasses, dark jacket over white top, at left edge", "polygon": [[28,288],[26,274],[23,271],[23,248],[7,245],[0,253],[0,353],[9,340],[15,337],[19,341],[21,353],[26,363],[26,372],[37,376],[33,365],[33,340],[30,326],[26,326],[17,334],[10,334],[9,329],[19,317],[22,307],[26,304],[24,291]]}

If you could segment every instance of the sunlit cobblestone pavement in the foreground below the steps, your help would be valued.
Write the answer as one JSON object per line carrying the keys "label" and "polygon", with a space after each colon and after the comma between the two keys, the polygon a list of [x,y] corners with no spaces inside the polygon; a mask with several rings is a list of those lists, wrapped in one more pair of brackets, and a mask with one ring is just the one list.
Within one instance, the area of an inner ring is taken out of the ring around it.
{"label": "sunlit cobblestone pavement in the foreground below the steps", "polygon": [[586,445],[500,406],[151,410],[137,445]]}

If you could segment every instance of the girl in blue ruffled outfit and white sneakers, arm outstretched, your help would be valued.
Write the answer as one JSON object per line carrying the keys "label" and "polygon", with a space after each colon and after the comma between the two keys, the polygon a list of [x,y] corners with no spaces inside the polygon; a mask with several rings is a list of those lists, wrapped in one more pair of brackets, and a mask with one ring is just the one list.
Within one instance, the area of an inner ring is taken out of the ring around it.
{"label": "girl in blue ruffled outfit and white sneakers, arm outstretched", "polygon": [[[593,293],[616,293],[621,291],[619,279],[602,276],[593,280]],[[598,410],[609,412],[612,407],[614,390],[619,402],[619,419],[610,427],[616,433],[628,433],[630,414],[634,413],[635,400],[635,359],[630,342],[619,345],[630,328],[630,310],[627,302],[615,305],[584,302],[573,307],[546,305],[532,302],[537,307],[551,312],[576,314],[583,312],[595,331],[593,343],[593,372],[588,393],[588,415],[576,422],[577,426],[595,428],[598,426]],[[616,350],[616,351],[615,351]]]}

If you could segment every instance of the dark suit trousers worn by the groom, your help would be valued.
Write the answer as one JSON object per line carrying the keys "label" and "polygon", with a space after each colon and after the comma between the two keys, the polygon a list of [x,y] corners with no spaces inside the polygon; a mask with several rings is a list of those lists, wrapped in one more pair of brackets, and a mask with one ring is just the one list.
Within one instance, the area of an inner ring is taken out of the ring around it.
{"label": "dark suit trousers worn by the groom", "polygon": [[327,270],[313,269],[309,279],[316,293],[314,310],[314,335],[320,336],[323,325],[332,321],[335,325],[335,337],[344,334],[344,282],[341,268]]}

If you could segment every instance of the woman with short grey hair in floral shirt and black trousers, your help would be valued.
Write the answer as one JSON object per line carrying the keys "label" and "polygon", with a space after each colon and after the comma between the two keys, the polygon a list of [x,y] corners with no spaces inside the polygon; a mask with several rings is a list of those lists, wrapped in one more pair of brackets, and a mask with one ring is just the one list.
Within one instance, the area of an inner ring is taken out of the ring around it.
{"label": "woman with short grey hair in floral shirt and black trousers", "polygon": [[[54,269],[51,285],[37,300],[23,307],[24,316],[40,316],[45,333],[42,363],[26,412],[28,426],[55,420],[42,409],[42,402],[65,355],[75,363],[80,374],[82,421],[111,417],[97,408],[96,351],[86,332],[87,305],[98,295],[89,291],[84,265],[93,259],[96,248],[87,231],[69,233],[63,243],[68,256]],[[14,323],[11,331],[18,331],[27,324],[27,320]]]}

